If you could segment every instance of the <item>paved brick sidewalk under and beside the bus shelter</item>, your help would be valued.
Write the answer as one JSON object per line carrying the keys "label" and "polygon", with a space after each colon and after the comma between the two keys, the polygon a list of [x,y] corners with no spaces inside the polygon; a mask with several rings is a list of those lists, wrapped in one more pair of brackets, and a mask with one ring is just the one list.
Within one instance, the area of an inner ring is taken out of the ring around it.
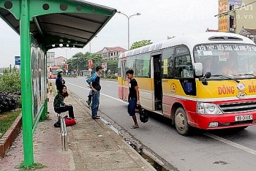
{"label": "paved brick sidewalk under and beside the bus shelter", "polygon": [[[48,97],[50,120],[39,122],[34,134],[34,162],[47,166],[42,170],[154,170],[105,123],[91,119],[89,108],[70,91],[67,102],[73,105],[78,123],[67,127],[68,151],[62,151],[60,129],[53,126],[57,121],[53,96]],[[0,159],[0,170],[18,170],[15,167],[22,161],[20,132],[7,156]]]}

